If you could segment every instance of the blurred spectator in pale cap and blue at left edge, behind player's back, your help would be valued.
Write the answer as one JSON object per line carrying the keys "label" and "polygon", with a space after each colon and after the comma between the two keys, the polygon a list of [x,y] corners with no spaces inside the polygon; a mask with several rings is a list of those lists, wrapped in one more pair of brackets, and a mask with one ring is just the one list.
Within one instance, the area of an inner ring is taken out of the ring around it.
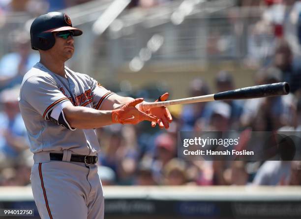
{"label": "blurred spectator in pale cap and blue at left edge, behind player's back", "polygon": [[5,156],[5,163],[16,163],[23,152],[29,148],[25,124],[20,114],[18,96],[20,87],[1,92],[0,101],[3,112],[0,113],[0,153]]}

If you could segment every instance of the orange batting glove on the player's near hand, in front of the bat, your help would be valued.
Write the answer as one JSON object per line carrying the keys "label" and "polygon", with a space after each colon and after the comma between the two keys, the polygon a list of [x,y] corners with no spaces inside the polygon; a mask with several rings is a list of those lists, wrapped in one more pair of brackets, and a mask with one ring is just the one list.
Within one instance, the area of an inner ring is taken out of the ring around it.
{"label": "orange batting glove on the player's near hand, in front of the bat", "polygon": [[112,122],[121,124],[137,124],[144,120],[156,122],[156,117],[148,115],[135,107],[142,101],[143,98],[134,99],[120,109],[112,110]]}

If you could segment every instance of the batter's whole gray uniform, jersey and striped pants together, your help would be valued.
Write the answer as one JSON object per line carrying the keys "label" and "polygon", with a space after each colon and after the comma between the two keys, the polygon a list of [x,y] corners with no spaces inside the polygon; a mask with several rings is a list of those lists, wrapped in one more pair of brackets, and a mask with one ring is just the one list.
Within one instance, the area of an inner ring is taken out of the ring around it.
{"label": "batter's whole gray uniform, jersey and striped pants together", "polygon": [[[65,73],[61,77],[37,63],[21,85],[19,107],[34,153],[32,194],[42,219],[103,219],[97,166],[70,162],[71,154],[96,155],[96,131],[70,127],[62,109],[67,104],[100,109],[114,93],[86,74],[66,67]],[[62,153],[62,161],[51,160],[50,152]]]}

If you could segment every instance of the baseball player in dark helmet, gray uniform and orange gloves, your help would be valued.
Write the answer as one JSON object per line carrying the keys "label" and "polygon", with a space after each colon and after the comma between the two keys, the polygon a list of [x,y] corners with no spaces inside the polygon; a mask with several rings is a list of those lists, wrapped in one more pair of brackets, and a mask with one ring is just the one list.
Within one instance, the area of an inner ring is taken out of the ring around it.
{"label": "baseball player in dark helmet, gray uniform and orange gloves", "polygon": [[30,27],[31,48],[39,51],[40,62],[23,78],[19,106],[33,152],[32,193],[42,219],[103,219],[95,128],[141,121],[168,128],[172,122],[165,107],[143,112],[142,98],[120,97],[65,67],[74,52],[73,37],[82,33],[60,12],[37,17]]}

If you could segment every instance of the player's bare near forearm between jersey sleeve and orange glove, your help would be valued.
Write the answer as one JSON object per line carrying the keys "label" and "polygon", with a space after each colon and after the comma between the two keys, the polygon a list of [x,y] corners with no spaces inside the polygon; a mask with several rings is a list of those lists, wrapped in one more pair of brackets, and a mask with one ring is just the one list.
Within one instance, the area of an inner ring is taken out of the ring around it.
{"label": "player's bare near forearm between jersey sleeve and orange glove", "polygon": [[112,111],[95,110],[88,107],[65,107],[65,118],[73,128],[90,129],[113,124]]}

